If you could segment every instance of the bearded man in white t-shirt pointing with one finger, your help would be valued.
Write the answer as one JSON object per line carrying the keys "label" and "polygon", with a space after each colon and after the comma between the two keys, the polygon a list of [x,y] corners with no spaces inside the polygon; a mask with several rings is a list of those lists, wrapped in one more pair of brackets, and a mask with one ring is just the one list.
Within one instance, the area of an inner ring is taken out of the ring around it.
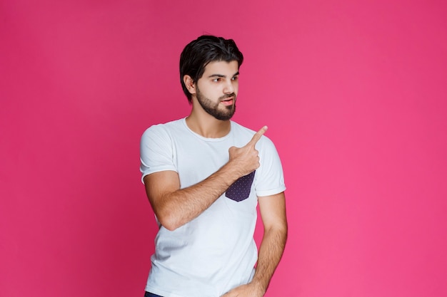
{"label": "bearded man in white t-shirt pointing with one finger", "polygon": [[[263,136],[267,127],[255,133],[230,120],[242,61],[231,39],[191,41],[180,58],[190,115],[141,137],[142,180],[159,224],[146,297],[261,297],[281,259],[281,162]],[[257,204],[264,226],[259,253]]]}

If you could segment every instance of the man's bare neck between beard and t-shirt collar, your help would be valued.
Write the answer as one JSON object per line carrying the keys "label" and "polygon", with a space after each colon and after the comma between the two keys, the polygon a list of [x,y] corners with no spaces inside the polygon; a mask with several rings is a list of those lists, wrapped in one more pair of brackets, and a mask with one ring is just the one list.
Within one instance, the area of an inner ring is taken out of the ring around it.
{"label": "man's bare neck between beard and t-shirt collar", "polygon": [[186,125],[189,129],[206,138],[220,138],[230,132],[230,120],[217,120],[204,110],[201,111],[199,113],[193,107],[191,114],[186,118]]}

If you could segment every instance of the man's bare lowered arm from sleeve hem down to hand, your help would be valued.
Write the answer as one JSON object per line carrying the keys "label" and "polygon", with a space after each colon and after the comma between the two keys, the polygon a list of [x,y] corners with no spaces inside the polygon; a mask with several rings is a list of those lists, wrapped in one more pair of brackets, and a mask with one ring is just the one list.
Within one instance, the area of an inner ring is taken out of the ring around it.
{"label": "man's bare lowered arm from sleeve hem down to hand", "polygon": [[233,288],[222,297],[261,297],[283,255],[287,239],[286,202],[284,193],[258,197],[264,234],[259,246],[258,264],[253,280]]}

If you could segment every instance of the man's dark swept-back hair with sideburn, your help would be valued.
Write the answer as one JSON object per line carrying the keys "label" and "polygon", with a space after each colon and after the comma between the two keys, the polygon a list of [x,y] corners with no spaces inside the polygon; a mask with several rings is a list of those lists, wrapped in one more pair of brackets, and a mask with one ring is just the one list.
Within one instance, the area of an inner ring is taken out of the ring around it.
{"label": "man's dark swept-back hair with sideburn", "polygon": [[191,76],[196,83],[204,75],[205,67],[213,61],[237,61],[239,68],[243,61],[243,55],[233,39],[211,35],[203,35],[191,41],[181,52],[180,82],[189,103],[192,102],[192,96],[184,83],[184,75]]}

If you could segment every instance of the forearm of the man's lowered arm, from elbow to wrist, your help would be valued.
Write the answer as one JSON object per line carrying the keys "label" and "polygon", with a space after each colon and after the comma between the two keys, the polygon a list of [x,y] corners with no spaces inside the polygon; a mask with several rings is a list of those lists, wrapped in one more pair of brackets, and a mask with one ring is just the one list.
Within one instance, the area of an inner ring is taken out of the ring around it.
{"label": "forearm of the man's lowered arm, from elbow to wrist", "polygon": [[284,247],[286,246],[287,226],[266,229],[263,234],[261,246],[259,246],[258,264],[251,283],[258,290],[265,293],[270,283],[273,272],[278,266]]}

